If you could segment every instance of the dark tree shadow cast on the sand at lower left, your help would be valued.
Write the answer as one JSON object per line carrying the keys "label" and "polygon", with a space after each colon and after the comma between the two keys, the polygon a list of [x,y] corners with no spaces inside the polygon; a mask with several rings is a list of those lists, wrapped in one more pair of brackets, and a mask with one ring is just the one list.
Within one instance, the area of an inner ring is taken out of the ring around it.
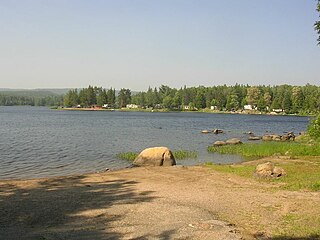
{"label": "dark tree shadow cast on the sand at lower left", "polygon": [[[154,198],[149,196],[152,192],[137,192],[135,181],[85,178],[37,180],[31,186],[0,182],[0,238],[121,239],[123,233],[113,229],[112,223],[121,223],[123,216],[108,210]],[[169,239],[171,234],[153,237]]]}

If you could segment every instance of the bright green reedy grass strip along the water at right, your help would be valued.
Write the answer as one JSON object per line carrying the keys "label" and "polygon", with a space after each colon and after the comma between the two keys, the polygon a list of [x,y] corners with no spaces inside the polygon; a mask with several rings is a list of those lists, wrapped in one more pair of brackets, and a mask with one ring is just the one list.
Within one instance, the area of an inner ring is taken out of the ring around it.
{"label": "bright green reedy grass strip along the water at right", "polygon": [[261,158],[273,155],[296,156],[320,156],[320,144],[304,144],[297,142],[262,142],[244,143],[238,145],[225,145],[208,147],[209,152],[220,154],[240,154],[245,158]]}

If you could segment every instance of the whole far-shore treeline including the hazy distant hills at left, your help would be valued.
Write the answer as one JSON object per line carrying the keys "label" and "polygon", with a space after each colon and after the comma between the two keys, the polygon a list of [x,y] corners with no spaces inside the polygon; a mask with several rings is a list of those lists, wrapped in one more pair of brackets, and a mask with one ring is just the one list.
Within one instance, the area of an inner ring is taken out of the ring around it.
{"label": "whole far-shore treeline including the hazy distant hills at left", "polygon": [[[277,113],[309,115],[320,112],[320,87],[305,86],[234,86],[186,87],[176,89],[161,85],[147,91],[133,92],[122,88],[105,89],[88,86],[52,92],[46,90],[2,90],[0,105],[31,105],[60,107],[102,107],[127,110],[170,111],[222,111]],[[249,106],[249,107],[248,107]]]}

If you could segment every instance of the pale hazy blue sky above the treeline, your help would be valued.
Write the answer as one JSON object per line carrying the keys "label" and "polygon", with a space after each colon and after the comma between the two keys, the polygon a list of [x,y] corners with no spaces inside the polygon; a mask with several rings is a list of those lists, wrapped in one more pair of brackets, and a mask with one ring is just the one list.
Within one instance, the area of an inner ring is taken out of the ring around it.
{"label": "pale hazy blue sky above the treeline", "polygon": [[0,88],[320,84],[314,0],[0,0]]}

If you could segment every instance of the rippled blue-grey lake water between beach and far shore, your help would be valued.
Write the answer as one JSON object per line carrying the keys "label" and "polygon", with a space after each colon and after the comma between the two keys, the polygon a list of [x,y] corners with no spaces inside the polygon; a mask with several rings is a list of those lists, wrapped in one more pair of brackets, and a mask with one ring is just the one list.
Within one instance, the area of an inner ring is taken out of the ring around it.
{"label": "rippled blue-grey lake water between beach and far shore", "polygon": [[[178,161],[230,163],[239,156],[207,152],[216,140],[245,132],[305,131],[308,117],[208,113],[59,111],[41,107],[0,107],[0,178],[38,178],[130,166],[116,158],[152,146],[195,150],[198,159]],[[201,134],[219,128],[224,134]]]}

